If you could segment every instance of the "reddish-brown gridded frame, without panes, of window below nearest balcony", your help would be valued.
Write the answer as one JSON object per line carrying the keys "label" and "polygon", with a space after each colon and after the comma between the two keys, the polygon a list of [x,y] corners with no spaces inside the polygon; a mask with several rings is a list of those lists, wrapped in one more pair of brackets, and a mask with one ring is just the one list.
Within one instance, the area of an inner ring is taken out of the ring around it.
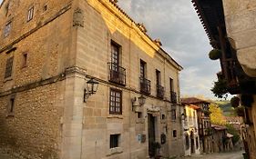
{"label": "reddish-brown gridded frame, without panes, of window below nearest balcony", "polygon": [[[111,93],[114,93],[115,95],[113,96]],[[117,94],[119,94],[119,96],[117,96]],[[119,100],[117,100],[118,97],[119,97]],[[117,111],[118,103],[119,103],[119,111]],[[114,109],[114,111],[112,111],[112,108]],[[110,91],[109,91],[109,114],[122,114],[122,91],[119,89],[110,88]]]}

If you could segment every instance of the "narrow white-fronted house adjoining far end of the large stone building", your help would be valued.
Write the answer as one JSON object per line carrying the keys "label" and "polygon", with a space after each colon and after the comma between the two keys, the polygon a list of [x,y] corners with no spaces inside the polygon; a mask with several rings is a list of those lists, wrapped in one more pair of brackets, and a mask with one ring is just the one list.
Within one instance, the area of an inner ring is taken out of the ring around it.
{"label": "narrow white-fronted house adjoining far end of the large stone building", "polygon": [[184,104],[184,147],[185,155],[200,154],[200,135],[197,110],[194,104]]}

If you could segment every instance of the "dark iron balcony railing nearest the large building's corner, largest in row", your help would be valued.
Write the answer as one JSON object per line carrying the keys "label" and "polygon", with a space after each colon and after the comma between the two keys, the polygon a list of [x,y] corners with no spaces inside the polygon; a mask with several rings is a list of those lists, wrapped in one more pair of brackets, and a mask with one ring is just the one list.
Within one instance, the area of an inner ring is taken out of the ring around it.
{"label": "dark iron balcony railing nearest the large building's corner, largest in row", "polygon": [[126,85],[126,69],[116,63],[108,63],[109,81],[115,84]]}

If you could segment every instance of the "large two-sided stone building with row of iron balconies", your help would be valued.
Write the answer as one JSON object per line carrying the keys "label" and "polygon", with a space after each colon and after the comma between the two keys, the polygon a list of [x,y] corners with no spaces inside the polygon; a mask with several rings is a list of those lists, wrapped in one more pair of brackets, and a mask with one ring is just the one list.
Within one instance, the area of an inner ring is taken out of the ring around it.
{"label": "large two-sided stone building with row of iron balconies", "polygon": [[1,152],[183,155],[182,67],[116,1],[4,0],[0,32]]}

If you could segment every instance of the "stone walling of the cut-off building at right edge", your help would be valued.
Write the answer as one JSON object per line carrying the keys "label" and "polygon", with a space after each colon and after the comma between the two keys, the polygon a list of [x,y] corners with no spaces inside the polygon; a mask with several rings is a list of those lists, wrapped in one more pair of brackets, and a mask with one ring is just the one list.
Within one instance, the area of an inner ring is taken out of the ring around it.
{"label": "stone walling of the cut-off building at right edge", "polygon": [[[237,58],[246,75],[256,77],[256,23],[254,21],[256,2],[255,1],[232,1],[223,0],[223,9],[226,21],[227,35],[232,39],[232,45],[237,51]],[[253,94],[254,102],[251,104],[251,122],[256,122],[256,95]],[[250,157],[256,158],[255,131],[256,127],[249,125],[248,139],[250,142]],[[253,130],[254,129],[254,130]],[[254,134],[254,136],[251,136]],[[251,140],[253,138],[254,140]]]}

